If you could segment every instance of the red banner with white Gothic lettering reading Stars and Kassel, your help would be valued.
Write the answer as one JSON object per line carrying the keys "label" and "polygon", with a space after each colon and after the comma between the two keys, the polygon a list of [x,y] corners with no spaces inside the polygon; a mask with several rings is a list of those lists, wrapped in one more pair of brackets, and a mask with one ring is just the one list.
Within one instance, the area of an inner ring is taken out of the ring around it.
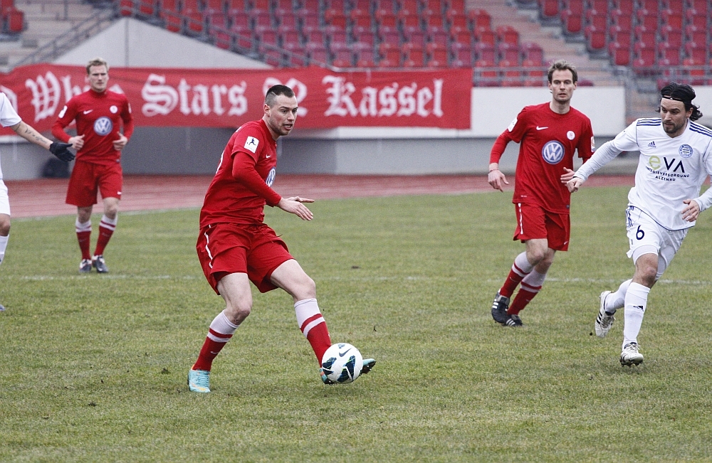
{"label": "red banner with white Gothic lettering reading Stars and Kassel", "polygon": [[[0,91],[25,122],[46,131],[71,97],[88,90],[85,75],[80,66],[23,66],[2,77]],[[263,115],[266,90],[281,83],[297,97],[298,128],[470,128],[471,69],[111,68],[109,76],[109,89],[128,97],[137,127],[239,127]]]}

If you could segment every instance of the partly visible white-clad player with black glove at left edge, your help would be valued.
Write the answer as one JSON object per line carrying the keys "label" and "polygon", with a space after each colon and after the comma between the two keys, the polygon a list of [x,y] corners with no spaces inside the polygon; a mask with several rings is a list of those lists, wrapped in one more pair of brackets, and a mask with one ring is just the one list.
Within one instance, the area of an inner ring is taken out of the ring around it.
{"label": "partly visible white-clad player with black glove at left edge", "polygon": [[[15,108],[10,104],[7,95],[0,92],[0,125],[10,127],[23,139],[32,142],[44,149],[48,149],[52,154],[62,161],[68,162],[74,159],[74,154],[67,148],[68,143],[52,142],[37,132],[33,127],[22,122]],[[10,238],[10,202],[7,197],[7,187],[2,180],[2,169],[0,169],[0,264],[5,257],[5,249]],[[0,304],[0,312],[5,307]]]}

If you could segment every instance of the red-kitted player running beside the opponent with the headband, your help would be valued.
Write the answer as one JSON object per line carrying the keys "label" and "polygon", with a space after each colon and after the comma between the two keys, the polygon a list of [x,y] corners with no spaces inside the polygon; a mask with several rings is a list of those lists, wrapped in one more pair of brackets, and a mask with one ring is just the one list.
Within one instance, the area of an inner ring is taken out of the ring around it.
{"label": "red-kitted player running beside the opponent with the headband", "polygon": [[595,150],[590,119],[570,105],[577,78],[570,63],[553,63],[548,72],[552,100],[521,110],[492,147],[488,181],[503,191],[508,181],[498,162],[509,142],[520,143],[512,202],[514,239],[525,243],[525,252],[515,258],[492,303],[492,318],[505,326],[522,326],[519,312],[541,289],[555,252],[569,246],[571,193],[566,182],[574,174],[574,151],[585,162]]}

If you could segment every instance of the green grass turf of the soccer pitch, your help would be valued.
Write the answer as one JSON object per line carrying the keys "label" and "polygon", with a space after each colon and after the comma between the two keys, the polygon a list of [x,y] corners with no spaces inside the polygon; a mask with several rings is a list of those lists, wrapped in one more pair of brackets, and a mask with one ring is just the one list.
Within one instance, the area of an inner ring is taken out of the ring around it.
{"label": "green grass turf of the soccer pitch", "polygon": [[0,461],[712,461],[712,213],[651,291],[645,362],[622,368],[622,314],[607,339],[592,331],[598,294],[632,275],[626,195],[575,194],[571,250],[523,329],[490,316],[523,250],[511,193],[319,201],[311,223],[268,208],[333,340],[378,363],[323,385],[290,297],[255,294],[208,395],[185,384],[223,308],[195,255],[197,211],[123,213],[109,275],[78,275],[73,218],[14,220]]}

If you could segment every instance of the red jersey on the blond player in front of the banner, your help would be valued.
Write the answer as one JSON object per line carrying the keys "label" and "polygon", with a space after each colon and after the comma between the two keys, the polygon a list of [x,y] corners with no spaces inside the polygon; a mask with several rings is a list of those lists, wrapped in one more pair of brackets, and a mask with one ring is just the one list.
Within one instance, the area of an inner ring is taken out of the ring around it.
{"label": "red jersey on the blond player in front of the banner", "polygon": [[109,90],[101,93],[87,90],[71,98],[52,127],[56,139],[69,140],[64,128],[73,120],[77,121],[77,134],[84,135],[84,146],[77,151],[78,160],[104,165],[120,161],[121,151],[113,145],[119,139],[120,122],[123,122],[126,138],[131,138],[133,133],[133,117],[126,95]]}

